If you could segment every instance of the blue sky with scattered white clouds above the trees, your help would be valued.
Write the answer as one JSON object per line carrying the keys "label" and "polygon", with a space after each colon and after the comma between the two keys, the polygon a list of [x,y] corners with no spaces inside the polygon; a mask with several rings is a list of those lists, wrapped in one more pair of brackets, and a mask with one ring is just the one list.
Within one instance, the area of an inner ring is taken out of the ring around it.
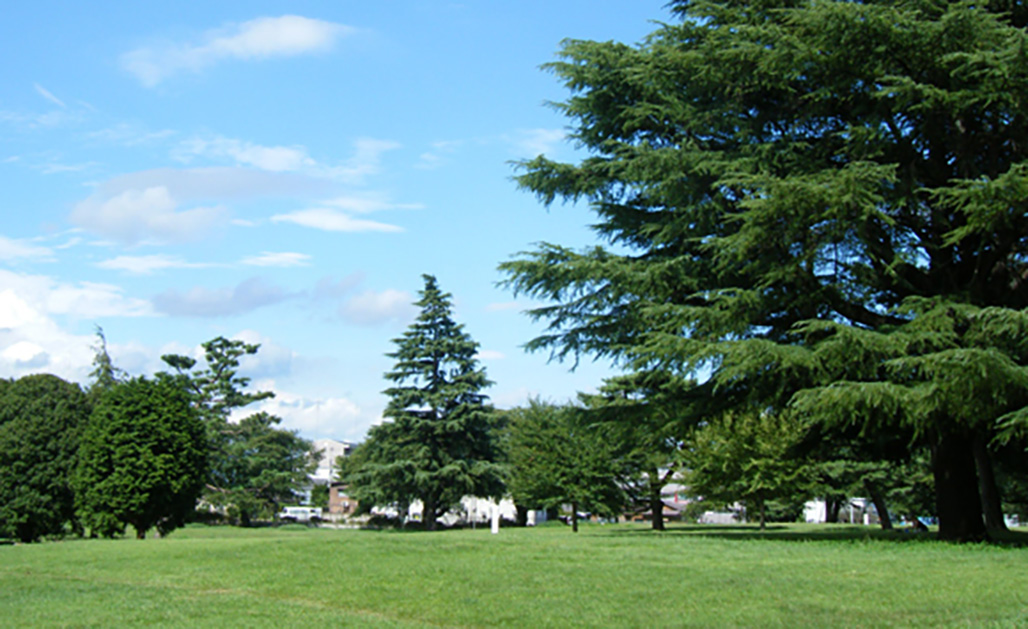
{"label": "blue sky with scattered white clouds above the trees", "polygon": [[15,3],[0,23],[0,377],[132,374],[222,335],[308,438],[360,440],[432,273],[510,407],[605,364],[548,363],[497,286],[534,243],[594,243],[511,160],[574,160],[539,66],[634,43],[664,0]]}

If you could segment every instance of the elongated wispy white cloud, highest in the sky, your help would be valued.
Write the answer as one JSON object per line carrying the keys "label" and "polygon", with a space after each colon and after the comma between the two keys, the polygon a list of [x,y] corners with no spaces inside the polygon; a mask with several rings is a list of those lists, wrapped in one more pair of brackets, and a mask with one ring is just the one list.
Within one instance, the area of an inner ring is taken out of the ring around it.
{"label": "elongated wispy white cloud, highest in the sky", "polygon": [[208,32],[201,43],[137,48],[121,66],[147,87],[182,71],[199,72],[219,61],[259,60],[325,51],[354,32],[351,27],[300,15],[258,17]]}

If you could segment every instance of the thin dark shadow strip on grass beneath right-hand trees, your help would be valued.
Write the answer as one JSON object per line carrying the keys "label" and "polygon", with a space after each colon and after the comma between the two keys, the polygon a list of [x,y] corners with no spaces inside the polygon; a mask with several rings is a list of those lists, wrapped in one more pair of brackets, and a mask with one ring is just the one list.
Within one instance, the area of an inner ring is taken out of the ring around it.
{"label": "thin dark shadow strip on grass beneath right-hand trees", "polygon": [[[595,530],[595,529],[594,529]],[[793,525],[769,524],[764,530],[754,524],[685,524],[670,525],[664,531],[651,528],[612,528],[599,534],[611,536],[671,535],[713,538],[732,541],[773,540],[778,542],[883,542],[922,543],[934,542],[934,533],[913,532],[908,528],[882,530],[860,525],[820,524]],[[991,544],[1015,548],[1028,547],[1028,532],[1011,530],[995,536]]]}

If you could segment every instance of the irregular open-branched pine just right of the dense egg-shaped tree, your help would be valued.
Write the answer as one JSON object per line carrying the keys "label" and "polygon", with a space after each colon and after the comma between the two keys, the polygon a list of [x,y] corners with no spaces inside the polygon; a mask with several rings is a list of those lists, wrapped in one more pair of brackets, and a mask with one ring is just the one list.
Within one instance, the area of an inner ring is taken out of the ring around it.
{"label": "irregular open-branched pine just right of the dense egg-shaped tree", "polygon": [[238,409],[274,395],[248,391],[250,378],[238,375],[241,359],[260,345],[219,336],[203,347],[203,367],[189,357],[162,357],[176,374],[161,377],[187,391],[204,419],[210,470],[204,499],[244,525],[269,519],[317,468],[311,443],[277,428],[282,420],[264,412],[233,419]]}

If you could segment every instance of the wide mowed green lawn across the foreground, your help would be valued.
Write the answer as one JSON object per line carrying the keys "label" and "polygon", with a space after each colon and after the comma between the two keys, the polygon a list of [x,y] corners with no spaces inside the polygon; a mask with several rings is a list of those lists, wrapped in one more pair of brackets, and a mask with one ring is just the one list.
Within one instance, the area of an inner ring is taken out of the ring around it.
{"label": "wide mowed green lawn across the foreground", "polygon": [[192,526],[0,547],[0,626],[1028,627],[1028,534],[1012,539]]}

